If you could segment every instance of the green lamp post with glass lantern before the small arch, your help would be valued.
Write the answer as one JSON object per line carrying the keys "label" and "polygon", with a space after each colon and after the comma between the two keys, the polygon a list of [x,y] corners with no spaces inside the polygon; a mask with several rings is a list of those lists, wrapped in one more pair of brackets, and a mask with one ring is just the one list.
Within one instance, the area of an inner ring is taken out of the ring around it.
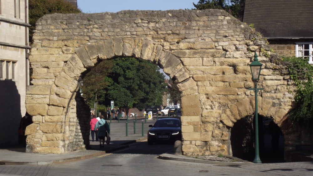
{"label": "green lamp post with glass lantern before the small arch", "polygon": [[252,73],[252,80],[254,82],[254,88],[250,88],[249,90],[254,90],[255,93],[255,156],[253,163],[262,163],[259,157],[259,124],[258,124],[258,91],[263,90],[263,88],[258,89],[258,81],[260,80],[260,73],[262,65],[258,61],[258,55],[254,54],[254,61],[249,64],[251,73]]}

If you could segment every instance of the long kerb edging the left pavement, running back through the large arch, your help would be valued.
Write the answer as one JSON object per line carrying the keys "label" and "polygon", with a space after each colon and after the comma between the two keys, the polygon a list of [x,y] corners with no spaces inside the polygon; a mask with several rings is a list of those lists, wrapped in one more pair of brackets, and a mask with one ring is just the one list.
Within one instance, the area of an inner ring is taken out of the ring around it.
{"label": "long kerb edging the left pavement, running back through the large arch", "polygon": [[125,145],[125,146],[121,146],[121,147],[117,147],[117,148],[113,148],[113,149],[109,149],[106,151],[101,151],[101,152],[97,152],[97,153],[93,153],[93,154],[89,154],[89,155],[83,155],[83,156],[78,156],[78,157],[73,157],[73,158],[65,158],[65,159],[55,159],[55,160],[50,160],[50,161],[33,161],[33,162],[18,162],[18,161],[2,161],[1,164],[4,165],[47,165],[47,164],[55,164],[55,163],[62,163],[62,162],[72,162],[72,161],[78,161],[78,160],[82,160],[82,159],[88,159],[88,158],[93,158],[96,156],[100,156],[103,155],[105,153],[111,153],[114,152],[116,150],[120,150],[123,148],[128,148],[129,145],[127,144],[131,144],[134,142],[141,142],[143,140],[145,140],[147,137],[142,137],[136,140],[131,140],[125,143],[121,143],[120,145]]}

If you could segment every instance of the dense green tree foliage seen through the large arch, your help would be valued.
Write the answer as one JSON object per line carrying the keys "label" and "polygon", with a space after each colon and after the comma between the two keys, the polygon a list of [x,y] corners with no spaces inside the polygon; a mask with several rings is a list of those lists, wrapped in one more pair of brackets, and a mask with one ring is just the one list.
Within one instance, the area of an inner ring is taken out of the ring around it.
{"label": "dense green tree foliage seen through the large arch", "polygon": [[97,95],[100,105],[144,109],[162,105],[166,91],[164,75],[146,60],[115,58],[102,61],[84,78],[83,96],[93,107]]}

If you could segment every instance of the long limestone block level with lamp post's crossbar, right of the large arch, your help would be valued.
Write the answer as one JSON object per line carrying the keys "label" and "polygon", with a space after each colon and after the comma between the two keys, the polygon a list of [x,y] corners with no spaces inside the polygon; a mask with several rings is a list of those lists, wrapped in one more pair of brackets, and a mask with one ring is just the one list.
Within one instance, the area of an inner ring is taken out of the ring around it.
{"label": "long limestone block level with lamp post's crossbar, right of the large arch", "polygon": [[199,87],[199,94],[237,95],[238,90],[233,87]]}

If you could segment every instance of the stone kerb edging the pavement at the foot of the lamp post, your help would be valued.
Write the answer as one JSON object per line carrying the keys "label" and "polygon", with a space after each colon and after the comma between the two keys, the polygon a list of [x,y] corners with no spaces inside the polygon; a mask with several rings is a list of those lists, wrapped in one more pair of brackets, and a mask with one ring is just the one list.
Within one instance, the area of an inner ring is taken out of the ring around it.
{"label": "stone kerb edging the pavement at the foot of the lamp post", "polygon": [[159,159],[166,159],[166,160],[174,160],[174,161],[185,161],[185,162],[205,163],[205,164],[218,164],[218,165],[227,165],[227,166],[240,166],[240,165],[255,164],[255,163],[252,163],[249,161],[242,161],[242,163],[211,161],[211,160],[186,157],[186,156],[182,156],[182,155],[176,155],[176,154],[172,154],[172,153],[163,153],[163,154],[159,155],[158,158]]}

